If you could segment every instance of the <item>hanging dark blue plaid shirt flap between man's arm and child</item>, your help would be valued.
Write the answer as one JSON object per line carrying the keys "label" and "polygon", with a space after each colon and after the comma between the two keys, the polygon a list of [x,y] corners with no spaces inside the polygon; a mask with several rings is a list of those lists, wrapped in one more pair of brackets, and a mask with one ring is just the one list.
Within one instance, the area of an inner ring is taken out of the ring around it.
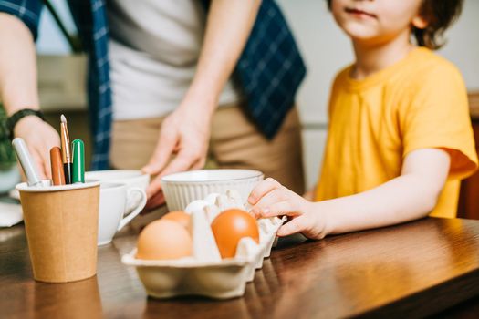
{"label": "hanging dark blue plaid shirt flap between man's arm and child", "polygon": [[263,0],[234,75],[258,129],[273,138],[306,75],[295,40],[274,1]]}

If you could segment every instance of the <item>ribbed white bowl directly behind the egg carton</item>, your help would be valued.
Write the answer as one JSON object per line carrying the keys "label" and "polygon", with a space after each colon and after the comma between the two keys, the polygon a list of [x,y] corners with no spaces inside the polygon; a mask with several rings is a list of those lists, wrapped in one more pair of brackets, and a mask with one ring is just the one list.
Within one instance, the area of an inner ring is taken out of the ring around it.
{"label": "ribbed white bowl directly behind the egg carton", "polygon": [[226,190],[237,190],[245,203],[263,178],[259,170],[190,170],[162,177],[161,189],[168,210],[183,211],[192,201]]}

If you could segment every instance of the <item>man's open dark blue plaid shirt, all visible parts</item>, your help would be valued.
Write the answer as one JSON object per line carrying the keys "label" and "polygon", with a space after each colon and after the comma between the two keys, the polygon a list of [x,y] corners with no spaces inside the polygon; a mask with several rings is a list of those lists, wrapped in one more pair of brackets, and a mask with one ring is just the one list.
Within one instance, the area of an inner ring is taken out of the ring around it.
{"label": "man's open dark blue plaid shirt, all visible parts", "polygon": [[[205,7],[209,1],[203,0]],[[68,0],[83,45],[89,54],[89,114],[94,137],[92,170],[109,167],[111,87],[108,21],[104,0]],[[37,35],[42,2],[0,0],[0,12],[16,15]],[[246,111],[267,138],[275,136],[293,107],[306,67],[286,20],[273,0],[263,0],[255,26],[234,69],[246,99]]]}

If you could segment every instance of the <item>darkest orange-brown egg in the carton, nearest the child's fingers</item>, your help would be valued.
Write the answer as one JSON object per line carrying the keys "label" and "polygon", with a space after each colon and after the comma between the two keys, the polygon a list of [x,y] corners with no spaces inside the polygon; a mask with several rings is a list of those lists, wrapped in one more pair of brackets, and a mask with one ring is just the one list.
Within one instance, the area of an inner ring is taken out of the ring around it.
{"label": "darkest orange-brown egg in the carton, nearest the child's fingers", "polygon": [[259,242],[256,220],[246,211],[232,209],[221,212],[212,222],[212,231],[222,258],[234,257],[238,242],[243,237]]}

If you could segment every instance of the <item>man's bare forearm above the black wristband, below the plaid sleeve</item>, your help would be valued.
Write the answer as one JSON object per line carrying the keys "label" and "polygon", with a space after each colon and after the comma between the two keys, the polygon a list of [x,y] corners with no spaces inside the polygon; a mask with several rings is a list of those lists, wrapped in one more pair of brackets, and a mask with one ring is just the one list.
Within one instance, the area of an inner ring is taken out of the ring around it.
{"label": "man's bare forearm above the black wristband, below the plaid sleeve", "polygon": [[0,100],[8,115],[39,107],[33,37],[16,16],[4,13],[0,13]]}

